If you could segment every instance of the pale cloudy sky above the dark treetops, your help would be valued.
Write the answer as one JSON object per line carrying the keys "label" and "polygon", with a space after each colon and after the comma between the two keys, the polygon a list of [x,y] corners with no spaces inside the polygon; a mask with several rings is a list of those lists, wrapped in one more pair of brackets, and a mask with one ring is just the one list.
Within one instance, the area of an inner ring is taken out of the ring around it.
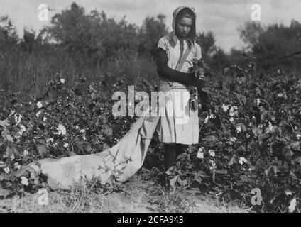
{"label": "pale cloudy sky above the dark treetops", "polygon": [[[23,28],[39,31],[49,25],[51,16],[70,7],[72,2],[83,6],[87,13],[97,9],[107,16],[141,26],[146,16],[163,13],[166,24],[171,28],[172,14],[177,6],[192,6],[197,13],[197,31],[212,31],[217,45],[229,52],[231,48],[242,48],[239,37],[240,26],[251,21],[252,4],[261,6],[261,23],[283,23],[289,25],[292,19],[301,22],[301,0],[0,0],[0,16],[8,15],[15,24],[18,35]],[[49,12],[49,21],[39,21],[39,4],[47,4],[54,11]]]}

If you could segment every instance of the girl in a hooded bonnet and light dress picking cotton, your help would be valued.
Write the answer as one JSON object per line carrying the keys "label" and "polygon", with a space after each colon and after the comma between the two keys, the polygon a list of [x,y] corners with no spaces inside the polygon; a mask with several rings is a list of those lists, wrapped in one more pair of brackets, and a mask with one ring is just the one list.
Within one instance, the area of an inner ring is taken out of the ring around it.
{"label": "girl in a hooded bonnet and light dress picking cotton", "polygon": [[[168,170],[176,156],[199,143],[199,118],[190,94],[201,92],[203,106],[209,106],[202,72],[190,72],[192,60],[201,59],[200,46],[195,43],[195,9],[181,6],[173,12],[173,31],[158,41],[157,70],[160,91],[168,96],[160,108],[159,141],[165,143],[164,167]],[[204,109],[203,109],[204,110]]]}

